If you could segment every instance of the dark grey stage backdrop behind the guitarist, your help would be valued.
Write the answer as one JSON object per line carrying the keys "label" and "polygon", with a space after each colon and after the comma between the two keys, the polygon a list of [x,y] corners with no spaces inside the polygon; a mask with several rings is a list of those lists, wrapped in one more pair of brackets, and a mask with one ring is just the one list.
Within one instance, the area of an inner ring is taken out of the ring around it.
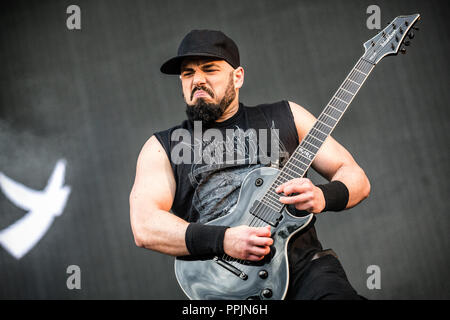
{"label": "dark grey stage backdrop behind the guitarist", "polygon": [[[66,8],[81,8],[68,30]],[[371,1],[9,1],[0,8],[0,172],[45,187],[66,160],[63,213],[21,259],[0,246],[0,297],[185,299],[173,258],[134,245],[128,196],[138,153],[184,119],[179,80],[159,66],[194,28],[240,47],[241,101],[289,99],[318,115],[375,35]],[[372,184],[369,199],[318,217],[324,247],[371,299],[450,298],[449,5],[378,1],[384,27],[420,13],[406,55],[381,61],[334,131]],[[321,181],[312,175],[316,182]],[[26,214],[0,190],[0,231]],[[81,289],[69,290],[69,265]],[[381,271],[369,290],[367,268]]]}

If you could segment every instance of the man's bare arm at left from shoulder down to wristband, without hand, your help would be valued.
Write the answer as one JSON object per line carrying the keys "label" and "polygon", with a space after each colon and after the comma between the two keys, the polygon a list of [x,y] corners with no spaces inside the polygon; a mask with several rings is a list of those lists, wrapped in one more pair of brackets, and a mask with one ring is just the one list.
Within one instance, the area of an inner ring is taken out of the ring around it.
{"label": "man's bare arm at left from shoulder down to wristband, without hand", "polygon": [[175,187],[167,154],[152,136],[139,154],[130,194],[130,222],[137,246],[174,256],[189,254],[188,223],[169,212]]}

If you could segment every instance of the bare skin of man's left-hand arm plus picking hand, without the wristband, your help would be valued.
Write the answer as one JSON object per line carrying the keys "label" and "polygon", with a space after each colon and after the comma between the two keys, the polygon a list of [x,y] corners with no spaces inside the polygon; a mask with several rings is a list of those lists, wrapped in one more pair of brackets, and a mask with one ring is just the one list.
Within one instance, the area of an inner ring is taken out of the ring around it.
{"label": "bare skin of man's left-hand arm plus picking hand, without the wristband", "polygon": [[[185,234],[189,223],[169,210],[176,182],[169,159],[152,136],[139,154],[136,178],[130,194],[130,222],[137,246],[173,256],[188,255]],[[238,226],[227,229],[225,253],[245,260],[261,260],[269,253],[268,227]]]}

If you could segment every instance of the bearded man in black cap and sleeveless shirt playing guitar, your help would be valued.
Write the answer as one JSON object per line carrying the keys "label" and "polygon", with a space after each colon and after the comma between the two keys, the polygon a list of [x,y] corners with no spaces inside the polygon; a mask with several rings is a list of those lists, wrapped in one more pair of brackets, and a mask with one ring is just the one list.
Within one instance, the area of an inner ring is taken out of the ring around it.
{"label": "bearded man in black cap and sleeveless shirt playing guitar", "polygon": [[[186,143],[180,140],[180,130],[195,137],[196,130],[203,133],[213,128],[228,134],[234,129],[245,136],[250,129],[275,128],[279,150],[274,153],[279,155],[276,160],[283,164],[315,123],[314,116],[293,102],[256,107],[239,103],[244,69],[240,66],[236,44],[220,31],[191,31],[181,42],[178,55],[164,63],[161,71],[179,75],[188,120],[156,132],[141,150],[130,194],[136,245],[173,256],[225,253],[242,260],[263,259],[273,243],[270,227],[227,228],[204,224],[230,212],[245,175],[263,165],[260,141],[256,142],[257,161],[248,161],[250,147],[241,149],[244,152],[239,161],[225,161],[235,150],[224,147],[220,140],[220,148],[216,144],[213,154],[217,156],[218,150],[222,150],[224,156],[214,161],[199,161],[195,155],[205,146],[211,146],[213,140],[194,138],[191,144]],[[239,143],[245,144],[233,137],[234,149]],[[184,148],[186,145],[188,149]],[[194,161],[190,161],[190,155],[194,155]],[[187,161],[180,161],[180,157]],[[326,139],[312,167],[331,182],[315,186],[307,178],[296,178],[276,190],[280,194],[278,200],[288,205],[293,214],[340,211],[357,205],[369,195],[370,184],[364,171],[332,137]],[[334,252],[322,249],[312,224],[291,239],[288,256],[290,283],[286,298],[360,298]]]}

